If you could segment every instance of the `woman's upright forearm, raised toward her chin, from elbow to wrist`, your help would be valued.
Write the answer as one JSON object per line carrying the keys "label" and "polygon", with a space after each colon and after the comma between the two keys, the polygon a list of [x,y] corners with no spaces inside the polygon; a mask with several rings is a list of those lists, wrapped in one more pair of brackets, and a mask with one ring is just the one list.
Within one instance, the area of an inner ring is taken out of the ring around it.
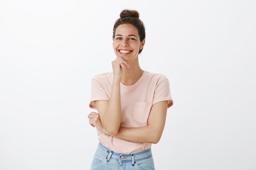
{"label": "woman's upright forearm, raised toward her chin, from elbow to wrist", "polygon": [[121,124],[120,81],[113,81],[110,101],[103,115],[102,125],[111,134],[117,134]]}

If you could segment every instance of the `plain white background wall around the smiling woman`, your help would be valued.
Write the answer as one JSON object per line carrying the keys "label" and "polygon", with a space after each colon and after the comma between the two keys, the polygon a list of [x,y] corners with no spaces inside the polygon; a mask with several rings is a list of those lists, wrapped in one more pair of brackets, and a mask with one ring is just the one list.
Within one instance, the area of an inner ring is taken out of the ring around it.
{"label": "plain white background wall around the smiling woman", "polygon": [[174,104],[156,170],[256,169],[256,1],[0,1],[0,170],[88,170],[90,83],[112,71],[123,9],[146,28],[142,69]]}

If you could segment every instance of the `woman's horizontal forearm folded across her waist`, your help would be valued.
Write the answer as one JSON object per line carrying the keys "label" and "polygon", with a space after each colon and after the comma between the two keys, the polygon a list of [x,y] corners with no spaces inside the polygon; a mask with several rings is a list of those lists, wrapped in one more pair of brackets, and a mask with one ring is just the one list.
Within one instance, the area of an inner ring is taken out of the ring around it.
{"label": "woman's horizontal forearm folded across her waist", "polygon": [[158,135],[151,126],[143,126],[139,128],[120,127],[116,135],[112,135],[108,133],[106,130],[103,130],[103,133],[119,139],[136,143],[156,144],[159,141],[157,139]]}

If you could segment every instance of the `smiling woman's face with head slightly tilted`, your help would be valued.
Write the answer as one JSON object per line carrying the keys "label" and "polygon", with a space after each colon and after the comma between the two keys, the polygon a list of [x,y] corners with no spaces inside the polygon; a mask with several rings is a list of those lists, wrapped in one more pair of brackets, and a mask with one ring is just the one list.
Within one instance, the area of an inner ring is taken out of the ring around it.
{"label": "smiling woman's face with head slightly tilted", "polygon": [[115,32],[113,49],[117,57],[122,57],[126,61],[131,61],[138,57],[139,49],[143,48],[144,43],[145,39],[140,42],[139,33],[135,26],[132,24],[121,24],[117,27]]}

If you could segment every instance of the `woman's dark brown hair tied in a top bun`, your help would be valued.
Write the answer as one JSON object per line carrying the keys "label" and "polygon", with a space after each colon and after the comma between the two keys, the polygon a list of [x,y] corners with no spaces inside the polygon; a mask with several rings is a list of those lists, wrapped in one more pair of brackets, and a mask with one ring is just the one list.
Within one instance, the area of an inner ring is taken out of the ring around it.
{"label": "woman's dark brown hair tied in a top bun", "polygon": [[[139,19],[138,11],[128,10],[128,9],[121,11],[120,18],[117,19],[114,24],[113,37],[112,37],[113,41],[115,38],[116,29],[121,24],[132,24],[138,30],[140,42],[145,39],[145,37],[146,37],[145,26],[144,26],[143,22]],[[139,53],[141,53],[142,50],[143,50],[143,48],[139,49]]]}

